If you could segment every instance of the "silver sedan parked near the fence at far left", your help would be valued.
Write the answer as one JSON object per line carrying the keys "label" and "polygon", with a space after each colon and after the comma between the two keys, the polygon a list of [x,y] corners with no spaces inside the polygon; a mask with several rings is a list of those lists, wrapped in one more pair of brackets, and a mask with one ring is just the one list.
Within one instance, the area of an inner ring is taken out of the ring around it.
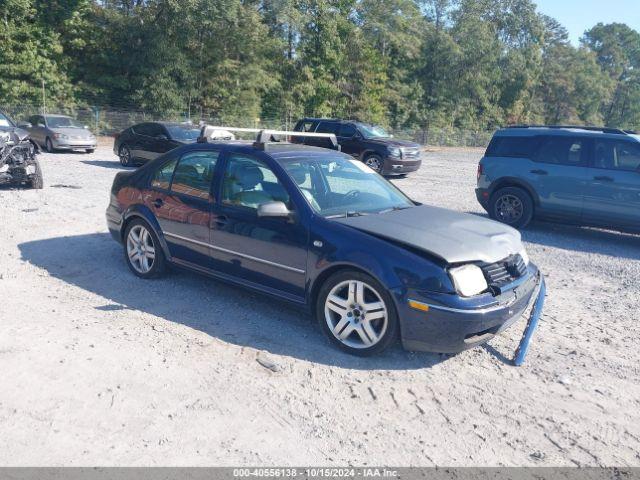
{"label": "silver sedan parked near the fence at far left", "polygon": [[67,115],[33,115],[27,127],[33,141],[47,152],[85,150],[93,153],[97,139],[77,120]]}

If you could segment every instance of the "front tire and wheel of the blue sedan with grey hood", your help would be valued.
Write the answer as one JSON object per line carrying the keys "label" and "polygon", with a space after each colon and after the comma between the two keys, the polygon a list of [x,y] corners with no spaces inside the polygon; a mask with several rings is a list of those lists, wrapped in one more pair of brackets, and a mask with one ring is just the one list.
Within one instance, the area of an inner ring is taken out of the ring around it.
{"label": "front tire and wheel of the blue sedan with grey hood", "polygon": [[338,272],[322,285],[316,318],[331,343],[351,355],[381,353],[398,337],[398,315],[387,289],[355,270]]}

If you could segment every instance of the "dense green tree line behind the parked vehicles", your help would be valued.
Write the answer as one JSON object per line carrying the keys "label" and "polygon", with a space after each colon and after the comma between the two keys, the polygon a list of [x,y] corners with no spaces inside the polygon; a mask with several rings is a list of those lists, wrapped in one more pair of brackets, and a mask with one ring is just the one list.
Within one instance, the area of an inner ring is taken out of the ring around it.
{"label": "dense green tree line behind the parked vehicles", "polygon": [[640,128],[640,34],[531,0],[0,0],[0,108]]}

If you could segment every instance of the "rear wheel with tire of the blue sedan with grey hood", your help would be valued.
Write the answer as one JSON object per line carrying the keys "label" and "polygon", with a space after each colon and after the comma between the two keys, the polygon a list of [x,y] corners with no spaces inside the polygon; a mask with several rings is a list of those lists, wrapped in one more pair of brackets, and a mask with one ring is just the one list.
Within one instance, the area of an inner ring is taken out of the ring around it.
{"label": "rear wheel with tire of the blue sedan with grey hood", "polygon": [[129,269],[140,278],[158,278],[166,270],[166,259],[158,236],[142,219],[135,219],[127,225],[124,256]]}

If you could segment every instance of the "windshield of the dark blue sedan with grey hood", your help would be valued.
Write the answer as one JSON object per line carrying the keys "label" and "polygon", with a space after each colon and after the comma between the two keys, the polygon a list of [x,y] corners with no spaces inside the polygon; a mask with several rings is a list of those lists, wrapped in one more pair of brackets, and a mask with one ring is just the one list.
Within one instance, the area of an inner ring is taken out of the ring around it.
{"label": "windshield of the dark blue sedan with grey hood", "polygon": [[281,163],[311,207],[324,217],[384,213],[414,206],[400,190],[357,160],[287,158]]}

